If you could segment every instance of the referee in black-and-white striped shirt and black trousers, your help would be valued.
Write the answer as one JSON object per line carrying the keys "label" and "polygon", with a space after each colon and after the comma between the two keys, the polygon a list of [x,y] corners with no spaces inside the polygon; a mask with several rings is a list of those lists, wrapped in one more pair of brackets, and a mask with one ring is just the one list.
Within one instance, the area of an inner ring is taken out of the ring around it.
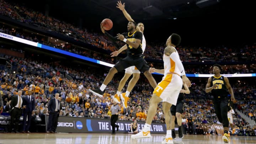
{"label": "referee in black-and-white striped shirt and black trousers", "polygon": [[110,118],[111,121],[111,126],[112,126],[112,134],[116,134],[115,133],[115,129],[118,128],[119,126],[116,124],[116,121],[118,119],[118,114],[121,113],[121,108],[119,107],[119,105],[117,105],[117,102],[113,101],[113,105],[111,106],[111,112],[112,112],[112,116]]}

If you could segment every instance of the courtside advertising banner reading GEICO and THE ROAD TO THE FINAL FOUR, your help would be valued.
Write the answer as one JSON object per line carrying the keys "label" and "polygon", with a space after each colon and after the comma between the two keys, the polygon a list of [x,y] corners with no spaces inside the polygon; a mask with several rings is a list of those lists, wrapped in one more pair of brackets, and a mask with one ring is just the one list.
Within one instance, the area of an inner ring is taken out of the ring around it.
{"label": "courtside advertising banner reading GEICO and THE ROAD TO THE FINAL FOUR", "polygon": [[[46,127],[48,123],[48,117],[46,117]],[[116,124],[119,126],[118,133],[127,133],[130,131],[129,125],[132,121],[120,121]],[[142,130],[145,122],[137,122],[138,130]],[[111,133],[112,127],[110,125],[110,119],[100,118],[83,118],[83,117],[66,117],[61,116],[58,119],[57,132],[63,133]],[[152,123],[151,133],[153,134],[165,134],[165,123]]]}

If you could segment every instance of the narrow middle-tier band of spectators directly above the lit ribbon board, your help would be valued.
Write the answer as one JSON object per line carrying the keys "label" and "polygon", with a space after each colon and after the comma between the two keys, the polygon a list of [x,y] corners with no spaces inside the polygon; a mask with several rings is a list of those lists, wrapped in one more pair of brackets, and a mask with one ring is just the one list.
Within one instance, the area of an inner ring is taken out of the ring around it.
{"label": "narrow middle-tier band of spectators directly above the lit ribbon board", "polygon": [[[65,45],[58,45],[58,44],[52,44],[50,42],[46,43],[44,42],[44,37],[42,36],[35,36],[31,33],[22,33],[22,32],[18,32],[15,29],[12,29],[9,26],[0,26],[0,32],[6,33],[6,34],[10,34],[16,37],[20,37],[20,38],[24,38],[30,41],[34,41],[34,42],[39,42],[39,43],[44,43],[47,44],[48,46],[52,46],[55,48],[59,48],[62,50],[66,50],[72,53],[76,53],[76,54],[80,54],[80,55],[84,55],[86,57],[90,57],[90,58],[94,58],[97,60],[101,60],[103,62],[108,62],[111,64],[114,64],[117,62],[118,59],[114,59],[112,57],[110,57],[110,55],[106,55],[106,54],[100,54],[100,53],[96,53],[92,50],[85,50],[85,49],[79,49],[74,47],[71,47],[71,44],[65,44]],[[17,51],[22,52],[22,50],[20,49],[16,49]],[[79,50],[79,51],[78,51]],[[183,52],[183,51],[181,51]],[[182,54],[182,53],[181,53]],[[154,67],[156,68],[162,68],[162,64],[161,63],[154,63]],[[206,67],[198,67],[198,66],[194,66],[194,65],[185,65],[185,69],[186,69],[186,73],[187,74],[212,74],[212,68],[210,66],[206,66]],[[223,69],[224,74],[246,74],[246,73],[256,73],[256,65],[244,65],[241,68],[237,68],[236,65],[230,65],[230,66],[226,66],[226,68]]]}

